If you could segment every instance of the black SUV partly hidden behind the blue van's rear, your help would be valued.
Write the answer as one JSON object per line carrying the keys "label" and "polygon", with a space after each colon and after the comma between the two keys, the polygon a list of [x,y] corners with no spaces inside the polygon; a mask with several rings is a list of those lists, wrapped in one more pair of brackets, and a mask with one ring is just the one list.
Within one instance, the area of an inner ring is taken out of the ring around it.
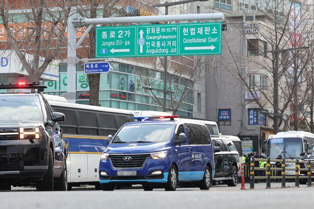
{"label": "black SUV partly hidden behind the blue van's rear", "polygon": [[237,185],[239,154],[231,140],[222,137],[211,138],[215,161],[213,184],[223,182],[229,187]]}

